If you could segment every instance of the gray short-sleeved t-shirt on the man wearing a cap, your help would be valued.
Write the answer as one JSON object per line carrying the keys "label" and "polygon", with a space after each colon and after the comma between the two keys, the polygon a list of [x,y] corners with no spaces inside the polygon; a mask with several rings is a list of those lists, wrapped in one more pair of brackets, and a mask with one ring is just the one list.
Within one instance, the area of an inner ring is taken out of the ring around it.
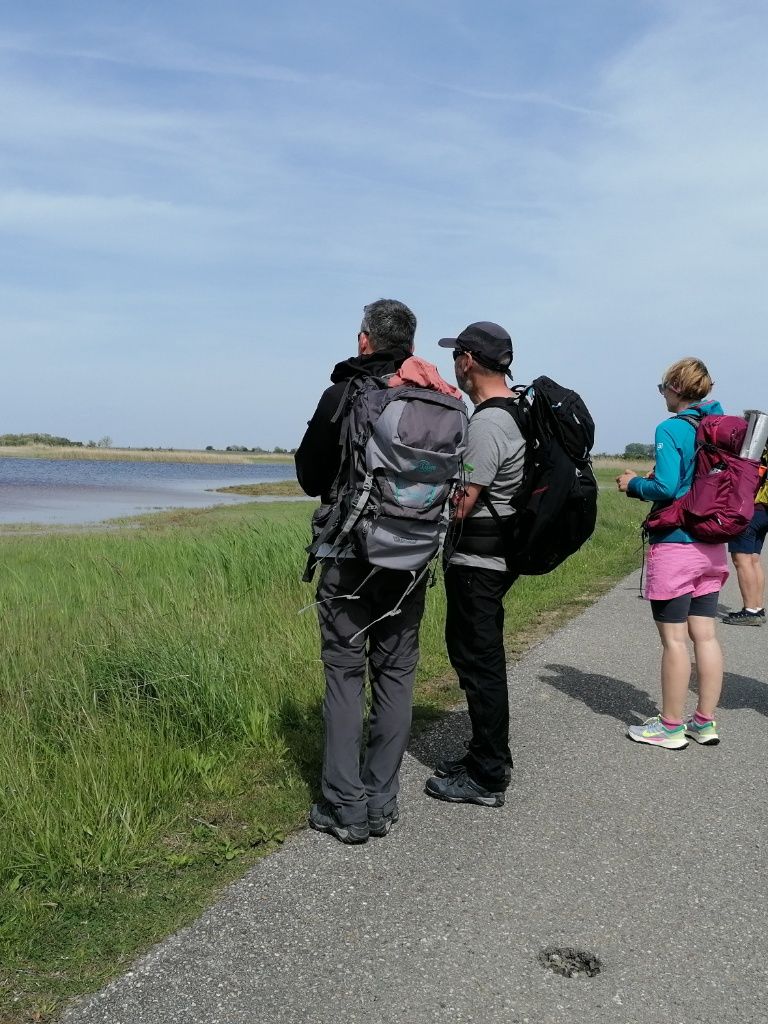
{"label": "gray short-sleeved t-shirt on the man wearing a cap", "polygon": [[[467,452],[464,456],[468,483],[479,483],[500,516],[513,514],[510,501],[522,482],[525,441],[517,424],[506,409],[481,409],[469,421]],[[481,498],[477,499],[468,516],[490,518],[490,510]],[[455,552],[452,565],[473,565],[503,572],[507,565],[503,558],[486,555],[468,555]]]}

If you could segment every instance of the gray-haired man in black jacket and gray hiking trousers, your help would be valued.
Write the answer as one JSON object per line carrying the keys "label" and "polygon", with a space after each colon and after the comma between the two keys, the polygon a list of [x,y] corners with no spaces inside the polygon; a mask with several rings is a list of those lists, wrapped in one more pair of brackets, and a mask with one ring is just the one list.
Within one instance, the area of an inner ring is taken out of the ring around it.
{"label": "gray-haired man in black jacket and gray hiking trousers", "polygon": [[[303,490],[319,496],[322,519],[335,502],[341,467],[343,406],[350,382],[394,374],[414,349],[416,316],[401,302],[367,305],[357,354],[337,364],[296,453]],[[419,659],[419,627],[426,575],[408,592],[397,615],[387,615],[407,591],[411,573],[355,557],[324,564],[317,585],[322,658],[326,676],[323,800],[309,824],[343,843],[386,836],[397,821],[399,768],[411,731],[411,705]],[[355,595],[354,600],[339,600]],[[380,621],[378,621],[380,620]],[[371,682],[369,735],[362,765],[366,671]]]}

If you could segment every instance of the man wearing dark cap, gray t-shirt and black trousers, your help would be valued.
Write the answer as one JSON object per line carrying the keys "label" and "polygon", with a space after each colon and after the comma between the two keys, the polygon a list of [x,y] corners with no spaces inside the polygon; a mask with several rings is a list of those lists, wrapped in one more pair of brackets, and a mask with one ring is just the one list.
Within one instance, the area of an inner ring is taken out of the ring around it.
{"label": "man wearing dark cap, gray t-shirt and black trousers", "polygon": [[501,807],[509,785],[509,695],[504,596],[516,577],[504,560],[494,516],[512,514],[522,482],[525,442],[507,406],[512,339],[498,324],[470,324],[438,342],[454,351],[459,387],[475,407],[465,455],[466,485],[456,505],[455,544],[445,569],[445,644],[472,725],[467,753],[440,761],[426,792],[451,803]]}

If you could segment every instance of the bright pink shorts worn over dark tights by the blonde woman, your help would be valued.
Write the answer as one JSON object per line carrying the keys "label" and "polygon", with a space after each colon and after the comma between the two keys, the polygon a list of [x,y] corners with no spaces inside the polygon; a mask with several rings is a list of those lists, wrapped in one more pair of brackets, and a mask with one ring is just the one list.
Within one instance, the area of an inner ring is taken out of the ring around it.
{"label": "bright pink shorts worn over dark tights by the blonde woman", "polygon": [[728,579],[724,544],[651,544],[645,558],[643,597],[669,601],[719,591]]}

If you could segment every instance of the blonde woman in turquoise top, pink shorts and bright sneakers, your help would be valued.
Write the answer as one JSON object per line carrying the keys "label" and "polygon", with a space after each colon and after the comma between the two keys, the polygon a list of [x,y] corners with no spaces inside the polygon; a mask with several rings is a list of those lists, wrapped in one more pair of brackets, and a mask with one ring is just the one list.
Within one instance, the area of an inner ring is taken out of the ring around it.
{"label": "blonde woman in turquoise top, pink shorts and bright sneakers", "polygon": [[[628,470],[616,478],[630,498],[667,505],[691,486],[695,463],[696,423],[722,415],[718,401],[706,401],[713,387],[700,359],[674,362],[662,379],[671,419],[656,427],[655,466],[648,477]],[[649,534],[644,597],[650,600],[662,640],[662,711],[643,725],[627,730],[630,739],[668,750],[682,750],[689,739],[720,741],[715,712],[723,686],[723,653],[715,631],[718,597],[728,579],[725,544],[702,544],[680,528]],[[686,719],[690,683],[688,640],[693,643],[698,702]]]}

